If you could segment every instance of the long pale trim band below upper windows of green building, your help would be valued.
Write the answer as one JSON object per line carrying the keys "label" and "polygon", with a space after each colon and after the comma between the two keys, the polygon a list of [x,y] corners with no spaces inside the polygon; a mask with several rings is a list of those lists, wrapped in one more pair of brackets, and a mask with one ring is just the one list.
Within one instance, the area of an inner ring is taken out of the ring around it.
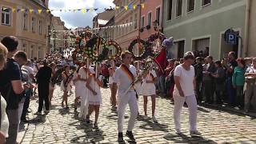
{"label": "long pale trim band below upper windows of green building", "polygon": [[209,13],[206,13],[206,14],[201,14],[197,17],[194,17],[194,18],[190,18],[184,22],[179,22],[178,24],[174,24],[174,25],[171,25],[171,26],[168,26],[165,28],[165,30],[171,30],[171,29],[174,29],[174,28],[177,28],[178,26],[183,26],[183,25],[186,25],[186,24],[189,24],[191,22],[196,22],[198,20],[201,20],[201,19],[204,19],[204,18],[209,18],[215,14],[221,14],[223,12],[226,12],[228,10],[233,10],[237,7],[240,7],[240,6],[245,6],[246,5],[246,1],[245,0],[242,0],[241,2],[236,2],[236,3],[233,3],[231,4],[230,6],[224,6],[220,9],[217,9],[217,10],[213,10]]}

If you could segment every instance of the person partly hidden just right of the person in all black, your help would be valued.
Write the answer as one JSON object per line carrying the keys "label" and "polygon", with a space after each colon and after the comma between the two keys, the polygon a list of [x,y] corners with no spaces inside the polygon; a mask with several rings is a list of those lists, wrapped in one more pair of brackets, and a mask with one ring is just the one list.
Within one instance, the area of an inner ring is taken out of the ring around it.
{"label": "person partly hidden just right of the person in all black", "polygon": [[51,106],[51,100],[54,95],[54,89],[55,89],[55,81],[54,81],[54,75],[56,74],[56,63],[51,62],[50,63],[50,69],[51,69],[51,74],[50,74],[50,84],[49,84],[49,105]]}

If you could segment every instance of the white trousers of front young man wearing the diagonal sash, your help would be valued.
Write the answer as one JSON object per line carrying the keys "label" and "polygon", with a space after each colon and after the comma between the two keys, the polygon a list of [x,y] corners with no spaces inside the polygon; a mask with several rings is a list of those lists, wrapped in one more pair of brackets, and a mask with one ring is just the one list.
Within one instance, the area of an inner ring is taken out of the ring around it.
{"label": "white trousers of front young man wearing the diagonal sash", "polygon": [[118,95],[118,133],[122,133],[123,120],[127,104],[129,104],[130,107],[130,119],[127,130],[132,131],[138,116],[138,105],[135,92],[128,92],[126,95]]}

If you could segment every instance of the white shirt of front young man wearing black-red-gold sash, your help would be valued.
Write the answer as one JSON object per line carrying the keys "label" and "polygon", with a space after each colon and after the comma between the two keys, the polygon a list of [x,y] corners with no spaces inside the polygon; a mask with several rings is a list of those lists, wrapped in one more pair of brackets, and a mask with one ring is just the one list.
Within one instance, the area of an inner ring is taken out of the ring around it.
{"label": "white shirt of front young man wearing black-red-gold sash", "polygon": [[[136,68],[130,65],[129,70],[134,75],[134,78],[136,78]],[[118,95],[120,95],[128,89],[132,83],[132,80],[120,67],[118,67],[118,69],[114,72],[114,83],[118,83]]]}

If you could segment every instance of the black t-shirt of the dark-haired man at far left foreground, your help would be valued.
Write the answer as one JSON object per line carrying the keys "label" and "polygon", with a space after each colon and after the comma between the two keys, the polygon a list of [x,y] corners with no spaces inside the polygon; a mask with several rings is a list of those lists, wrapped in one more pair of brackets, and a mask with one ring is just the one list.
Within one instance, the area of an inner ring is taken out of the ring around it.
{"label": "black t-shirt of the dark-haired man at far left foreground", "polygon": [[[13,58],[8,58],[6,62],[6,67],[4,70],[0,71],[0,92],[2,96],[6,99],[7,110],[16,110],[18,109],[18,102],[20,97],[24,96],[22,94],[15,94],[11,81],[22,80],[22,72],[18,63],[14,61]],[[9,96],[8,96],[9,94]]]}

